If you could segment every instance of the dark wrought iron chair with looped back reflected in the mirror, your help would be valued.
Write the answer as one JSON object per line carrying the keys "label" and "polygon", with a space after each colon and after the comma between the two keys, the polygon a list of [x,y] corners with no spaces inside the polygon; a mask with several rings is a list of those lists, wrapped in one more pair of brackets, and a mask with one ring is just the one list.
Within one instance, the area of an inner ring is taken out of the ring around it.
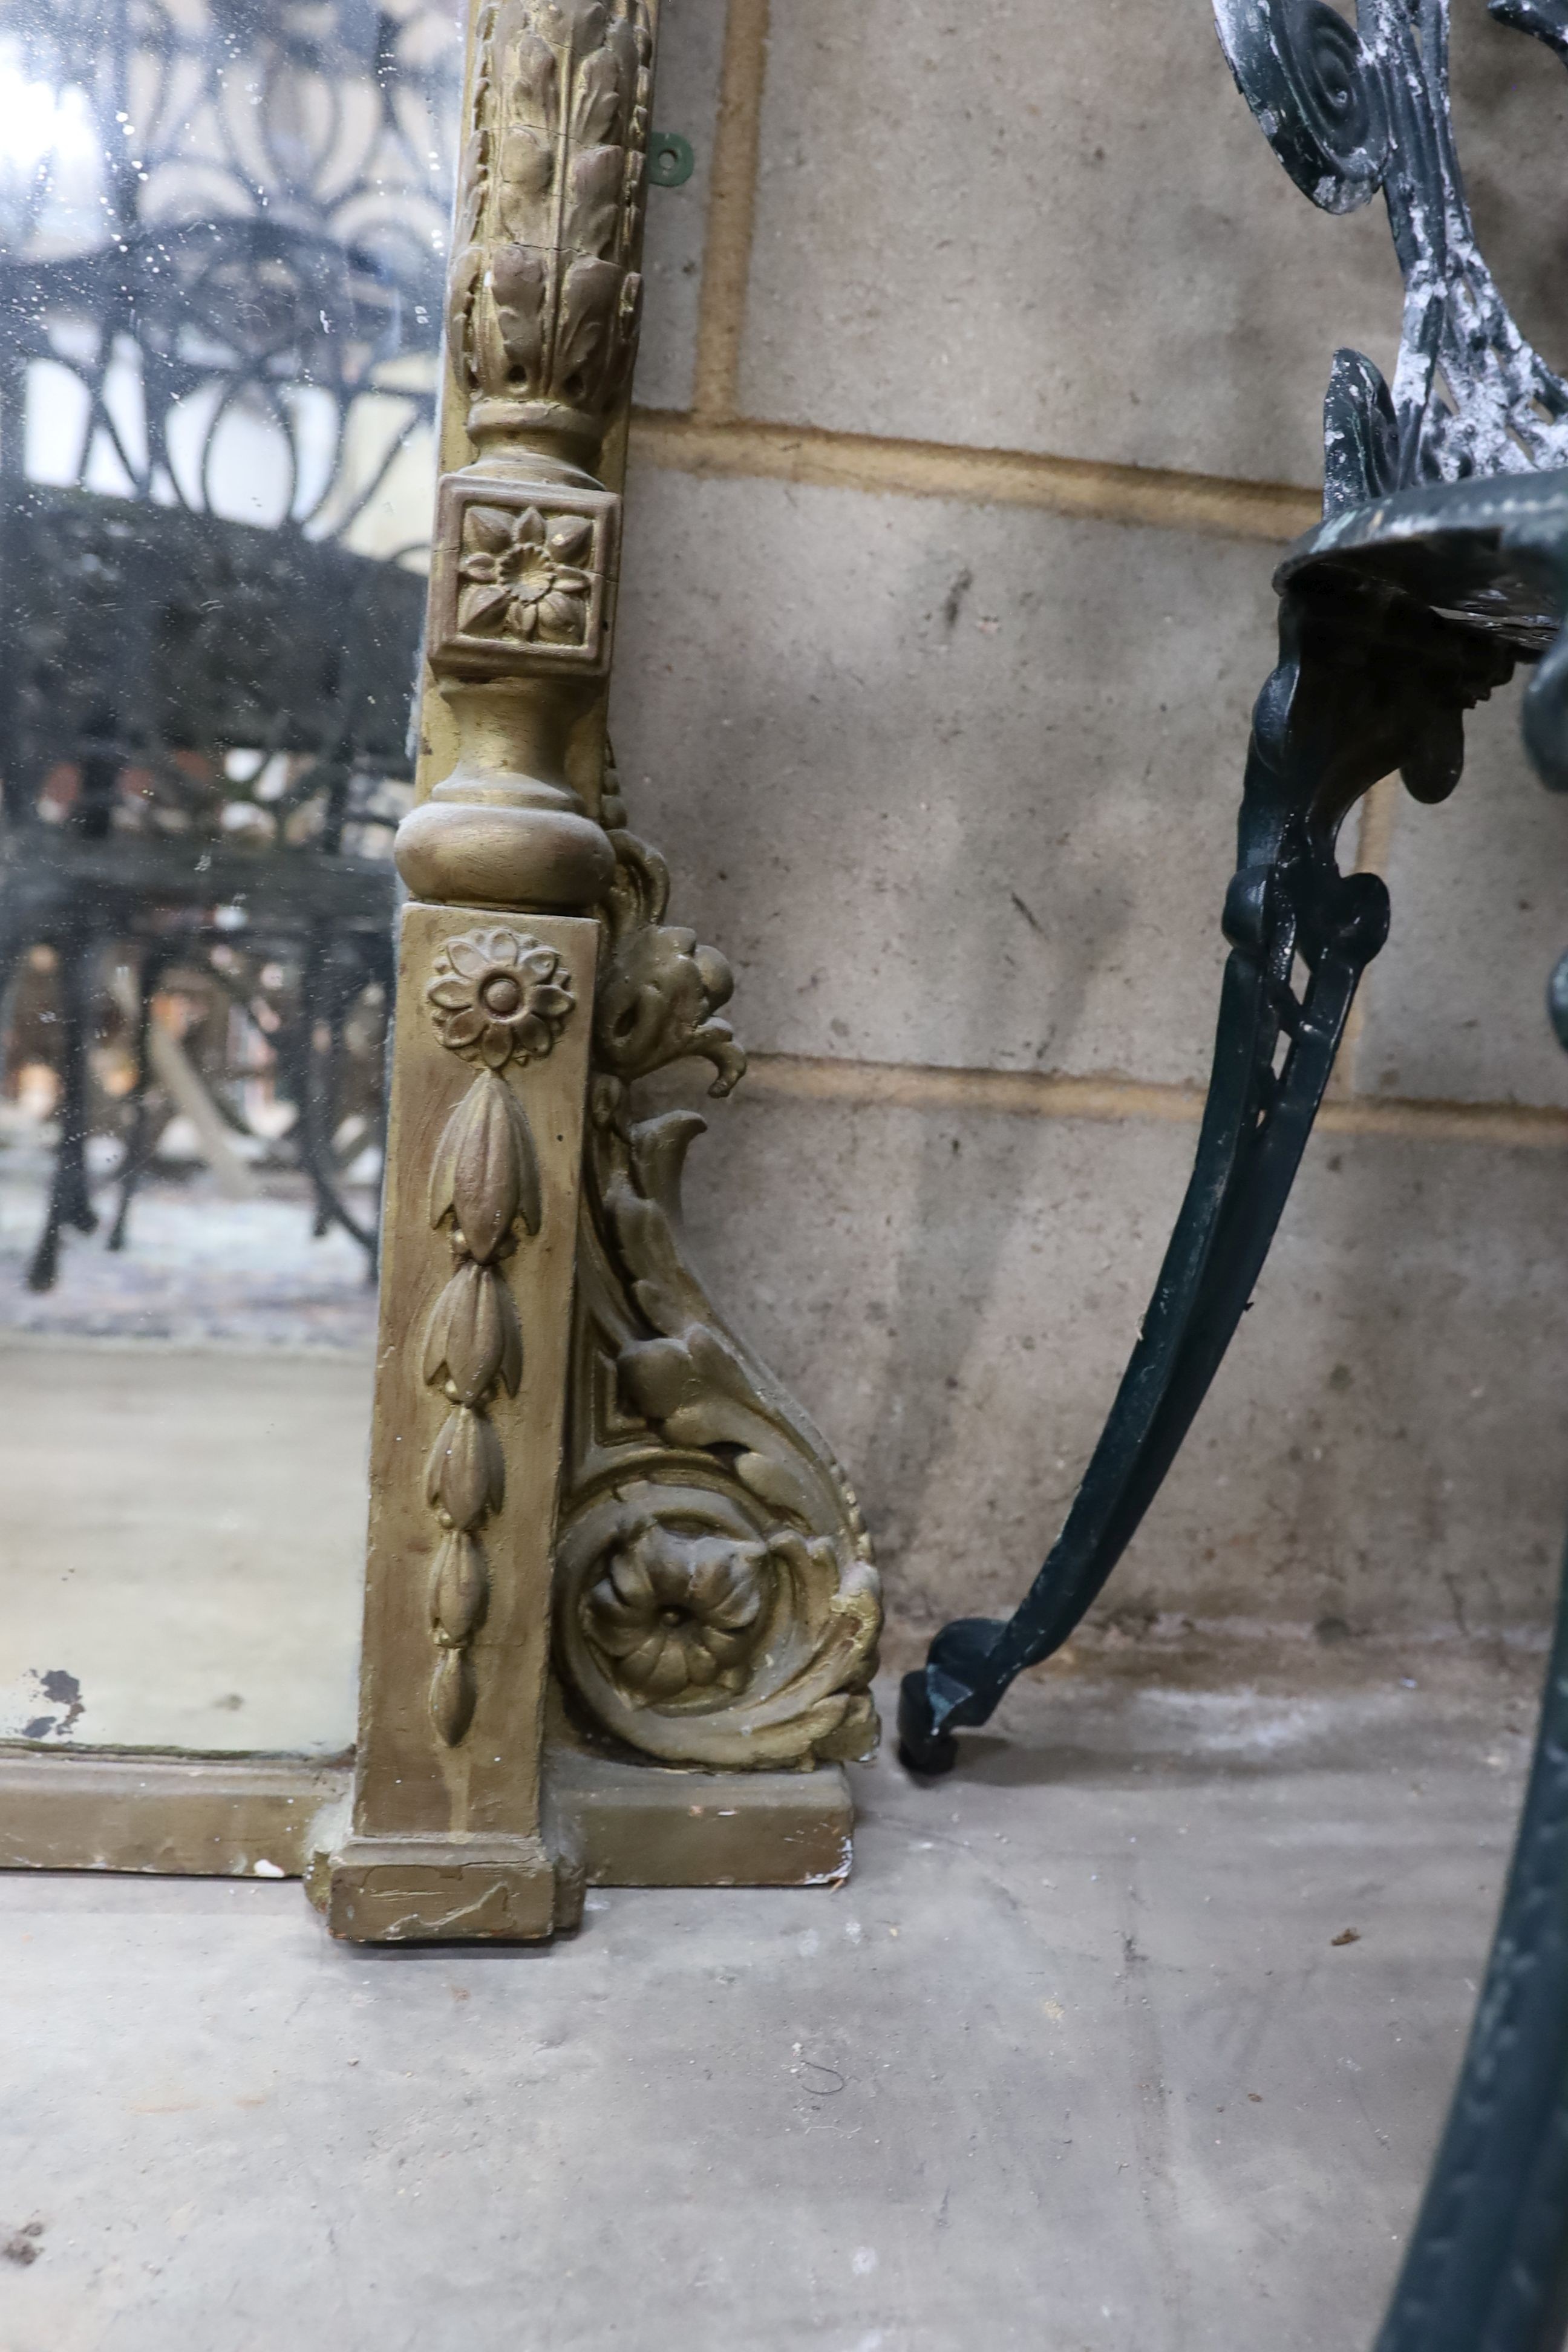
{"label": "dark wrought iron chair with looped back reflected in the mirror", "polygon": [[0,99],[56,111],[0,186],[0,985],[35,943],[59,962],[35,1287],[96,1223],[108,946],[139,974],[110,1244],[148,1162],[148,1007],[197,962],[247,1007],[284,974],[317,1230],[374,1258],[329,1138],[346,1014],[390,995],[458,73],[430,0],[0,0]]}

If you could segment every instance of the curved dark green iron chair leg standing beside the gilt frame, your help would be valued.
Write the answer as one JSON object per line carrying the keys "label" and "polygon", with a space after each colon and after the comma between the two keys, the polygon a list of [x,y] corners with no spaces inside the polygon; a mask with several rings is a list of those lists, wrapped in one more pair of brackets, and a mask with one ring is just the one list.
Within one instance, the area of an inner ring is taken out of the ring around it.
{"label": "curved dark green iron chair leg standing beside the gilt frame", "polygon": [[1465,757],[1462,713],[1514,666],[1509,647],[1378,581],[1286,581],[1279,640],[1253,710],[1225,896],[1232,953],[1187,1197],[1034,1585],[1006,1621],[945,1625],[903,1679],[898,1743],[912,1771],[950,1771],[952,1733],[987,1722],[1013,1677],[1060,1649],[1159,1494],[1267,1258],[1361,971],[1387,938],[1382,882],[1335,866],[1340,823],[1396,767],[1418,800],[1446,797]]}

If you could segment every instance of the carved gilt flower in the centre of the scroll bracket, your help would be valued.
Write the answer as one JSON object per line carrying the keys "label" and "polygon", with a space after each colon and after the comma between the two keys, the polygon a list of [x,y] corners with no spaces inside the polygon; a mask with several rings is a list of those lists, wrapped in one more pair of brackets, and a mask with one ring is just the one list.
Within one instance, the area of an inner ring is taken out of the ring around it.
{"label": "carved gilt flower in the centre of the scroll bracket", "polygon": [[766,1559],[766,1543],[644,1522],[583,1599],[583,1630],[644,1703],[736,1689],[762,1630]]}

